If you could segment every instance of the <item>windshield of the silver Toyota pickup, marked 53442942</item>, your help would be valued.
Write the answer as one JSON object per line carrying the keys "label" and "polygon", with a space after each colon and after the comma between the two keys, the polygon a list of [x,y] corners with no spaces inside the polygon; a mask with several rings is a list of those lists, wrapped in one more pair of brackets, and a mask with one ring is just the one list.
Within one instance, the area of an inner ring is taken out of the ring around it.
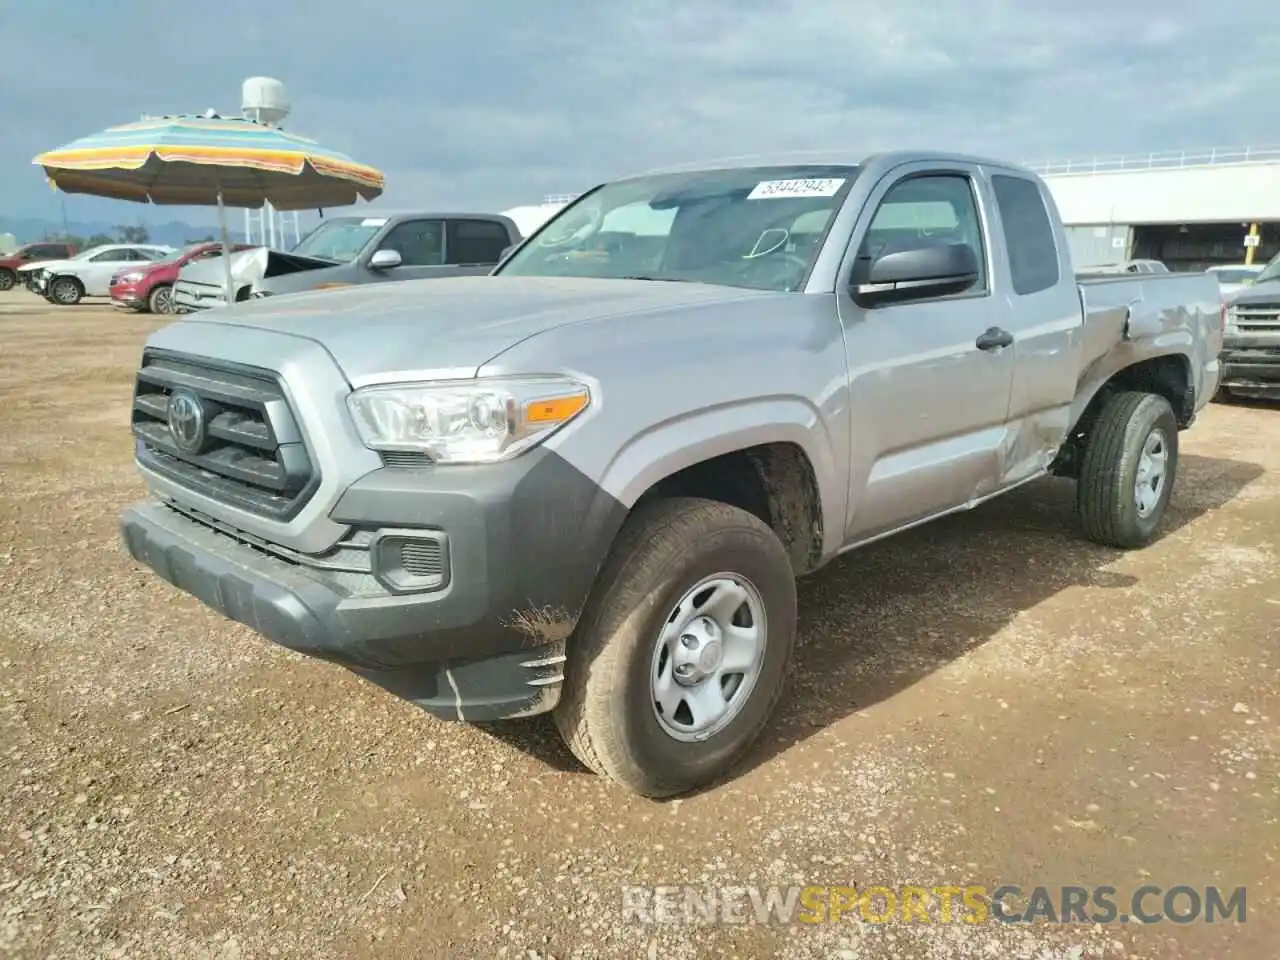
{"label": "windshield of the silver Toyota pickup, marked 53442942", "polygon": [[856,166],[755,166],[608,183],[548,220],[495,274],[796,291],[856,175]]}

